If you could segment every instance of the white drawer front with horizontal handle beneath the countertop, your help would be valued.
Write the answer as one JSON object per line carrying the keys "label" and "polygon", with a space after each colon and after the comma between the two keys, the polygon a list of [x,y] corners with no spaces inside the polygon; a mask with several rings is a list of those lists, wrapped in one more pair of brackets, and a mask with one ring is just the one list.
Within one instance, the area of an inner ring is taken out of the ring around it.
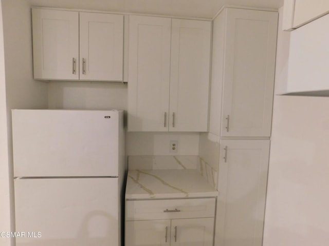
{"label": "white drawer front with horizontal handle beneath the countertop", "polygon": [[215,203],[215,198],[129,200],[125,220],[214,217]]}

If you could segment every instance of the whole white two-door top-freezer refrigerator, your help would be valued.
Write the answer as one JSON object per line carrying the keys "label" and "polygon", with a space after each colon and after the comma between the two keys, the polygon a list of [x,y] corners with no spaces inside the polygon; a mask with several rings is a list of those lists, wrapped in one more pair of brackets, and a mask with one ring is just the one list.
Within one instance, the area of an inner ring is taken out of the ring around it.
{"label": "whole white two-door top-freezer refrigerator", "polygon": [[17,246],[119,246],[123,112],[13,110]]}

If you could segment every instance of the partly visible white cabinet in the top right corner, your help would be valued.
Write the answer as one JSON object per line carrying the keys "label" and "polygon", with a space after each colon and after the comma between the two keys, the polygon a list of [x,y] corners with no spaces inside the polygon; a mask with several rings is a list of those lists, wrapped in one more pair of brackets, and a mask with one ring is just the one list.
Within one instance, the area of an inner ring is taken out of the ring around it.
{"label": "partly visible white cabinet in the top right corner", "polygon": [[296,29],[328,12],[327,0],[284,0],[282,29]]}

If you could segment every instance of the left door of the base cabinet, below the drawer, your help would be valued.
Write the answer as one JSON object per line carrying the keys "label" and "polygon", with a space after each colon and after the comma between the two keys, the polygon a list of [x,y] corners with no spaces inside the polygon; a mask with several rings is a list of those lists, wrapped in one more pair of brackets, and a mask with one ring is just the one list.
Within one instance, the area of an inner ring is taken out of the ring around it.
{"label": "left door of the base cabinet, below the drawer", "polygon": [[126,246],[170,245],[170,219],[125,222]]}

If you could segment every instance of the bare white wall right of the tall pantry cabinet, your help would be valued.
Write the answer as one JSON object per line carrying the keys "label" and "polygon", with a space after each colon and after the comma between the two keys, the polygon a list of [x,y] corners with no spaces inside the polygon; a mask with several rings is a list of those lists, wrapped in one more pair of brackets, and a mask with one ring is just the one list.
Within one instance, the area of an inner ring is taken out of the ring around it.
{"label": "bare white wall right of the tall pantry cabinet", "polygon": [[[280,28],[277,93],[287,78],[289,49],[289,34]],[[327,112],[328,97],[275,96],[263,246],[328,244]]]}

